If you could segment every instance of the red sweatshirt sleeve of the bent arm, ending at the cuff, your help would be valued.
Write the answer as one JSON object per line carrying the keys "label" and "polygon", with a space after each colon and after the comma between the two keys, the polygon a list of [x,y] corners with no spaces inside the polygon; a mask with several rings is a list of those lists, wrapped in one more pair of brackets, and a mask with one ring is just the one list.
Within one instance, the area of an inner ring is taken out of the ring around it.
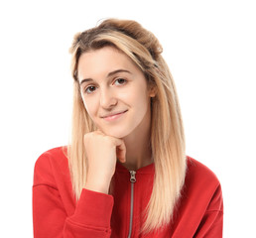
{"label": "red sweatshirt sleeve of the bent arm, ending at the cuff", "polygon": [[37,161],[33,185],[35,238],[110,237],[113,197],[82,189],[74,213],[67,216],[49,160]]}

